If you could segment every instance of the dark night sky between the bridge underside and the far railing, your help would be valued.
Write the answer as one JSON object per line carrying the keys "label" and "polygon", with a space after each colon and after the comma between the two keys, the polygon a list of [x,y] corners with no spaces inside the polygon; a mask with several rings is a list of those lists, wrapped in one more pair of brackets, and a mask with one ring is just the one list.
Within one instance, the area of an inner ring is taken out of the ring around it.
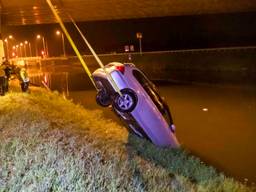
{"label": "dark night sky between the bridge underside and the far railing", "polygon": [[[256,12],[175,16],[132,20],[78,23],[98,53],[123,52],[124,45],[139,49],[136,32],[143,33],[144,51],[176,50],[256,45]],[[71,24],[67,24],[82,53],[89,53]],[[35,45],[36,34],[46,37],[50,55],[61,54],[61,40],[55,35],[57,24],[4,27],[3,35],[13,34],[17,42],[29,40]],[[66,41],[66,44],[67,41]],[[68,53],[72,54],[67,45]]]}

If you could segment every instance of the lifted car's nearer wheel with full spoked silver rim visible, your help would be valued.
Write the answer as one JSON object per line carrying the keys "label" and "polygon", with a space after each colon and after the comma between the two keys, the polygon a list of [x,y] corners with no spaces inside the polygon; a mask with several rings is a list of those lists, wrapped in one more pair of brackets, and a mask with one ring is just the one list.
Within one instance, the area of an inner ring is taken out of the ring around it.
{"label": "lifted car's nearer wheel with full spoked silver rim visible", "polygon": [[132,112],[138,103],[138,98],[136,93],[129,88],[121,90],[122,96],[117,94],[113,101],[113,106],[116,110],[128,113]]}

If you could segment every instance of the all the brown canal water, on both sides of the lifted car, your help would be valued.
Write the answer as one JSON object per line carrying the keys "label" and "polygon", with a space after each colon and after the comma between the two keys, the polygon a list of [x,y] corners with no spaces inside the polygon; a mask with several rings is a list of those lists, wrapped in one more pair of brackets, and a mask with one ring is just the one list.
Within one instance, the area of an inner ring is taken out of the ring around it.
{"label": "all the brown canal water, on both sides of the lifted car", "polygon": [[[102,109],[107,118],[119,120],[110,109],[95,102],[96,91],[84,73],[40,72],[31,76],[63,92],[89,109]],[[256,87],[157,83],[167,100],[181,144],[228,176],[256,183]]]}

